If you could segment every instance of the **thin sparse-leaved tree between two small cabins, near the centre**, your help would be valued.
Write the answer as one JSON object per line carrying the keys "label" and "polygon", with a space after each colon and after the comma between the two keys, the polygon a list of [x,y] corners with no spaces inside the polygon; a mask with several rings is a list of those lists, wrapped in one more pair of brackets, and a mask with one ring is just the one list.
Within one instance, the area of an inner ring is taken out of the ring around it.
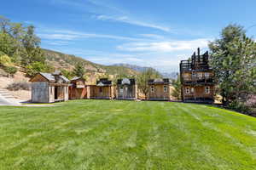
{"label": "thin sparse-leaved tree between two small cabins, near the centre", "polygon": [[145,69],[142,74],[137,76],[137,87],[146,96],[146,98],[148,98],[149,91],[148,80],[160,77],[160,73],[152,68]]}

